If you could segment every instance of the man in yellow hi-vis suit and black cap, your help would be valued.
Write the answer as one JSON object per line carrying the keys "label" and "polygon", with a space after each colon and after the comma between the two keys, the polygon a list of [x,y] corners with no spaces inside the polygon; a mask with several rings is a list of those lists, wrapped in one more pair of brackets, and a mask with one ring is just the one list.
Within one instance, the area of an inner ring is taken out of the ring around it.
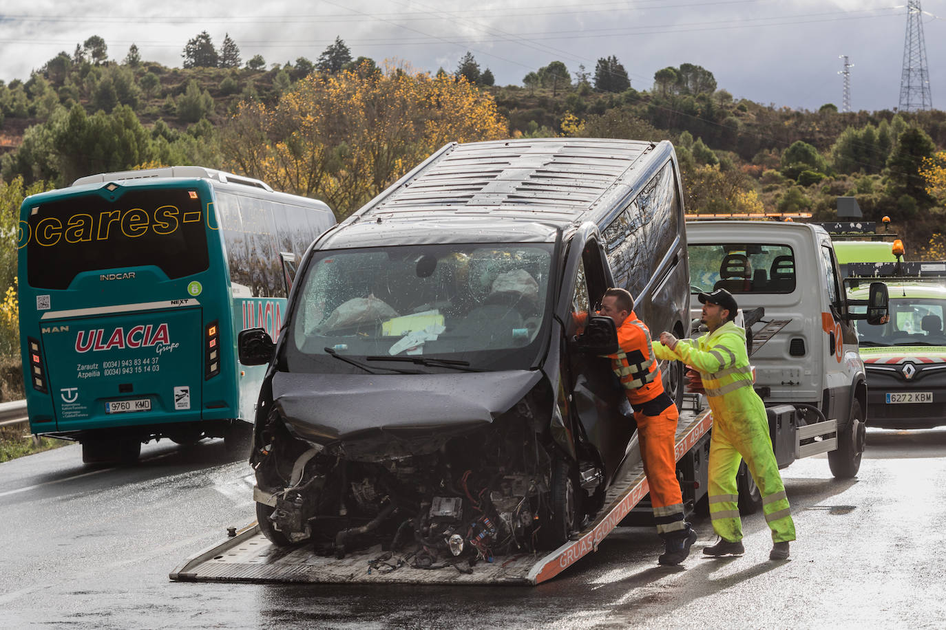
{"label": "man in yellow hi-vis suit and black cap", "polygon": [[736,472],[745,459],[762,492],[762,511],[772,530],[769,558],[788,557],[795,540],[785,486],[772,451],[765,405],[752,388],[752,367],[745,350],[745,330],[732,319],[739,307],[726,289],[699,294],[702,322],[710,329],[699,339],[677,339],[662,332],[654,351],[660,359],[675,359],[694,367],[703,381],[713,416],[710,440],[710,518],[719,542],[703,550],[707,555],[744,553],[743,525],[739,519]]}

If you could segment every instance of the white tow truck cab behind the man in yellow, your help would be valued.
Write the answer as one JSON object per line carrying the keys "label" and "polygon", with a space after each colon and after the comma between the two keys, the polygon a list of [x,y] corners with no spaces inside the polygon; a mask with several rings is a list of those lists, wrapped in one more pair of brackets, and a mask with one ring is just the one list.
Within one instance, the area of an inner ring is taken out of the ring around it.
{"label": "white tow truck cab behind the man in yellow", "polygon": [[[691,221],[687,239],[693,294],[725,288],[750,322],[753,309],[764,309],[747,336],[780,468],[828,452],[835,477],[856,475],[867,378],[853,320],[867,315],[850,311],[828,232],[803,223]],[[885,309],[885,295],[873,305]]]}

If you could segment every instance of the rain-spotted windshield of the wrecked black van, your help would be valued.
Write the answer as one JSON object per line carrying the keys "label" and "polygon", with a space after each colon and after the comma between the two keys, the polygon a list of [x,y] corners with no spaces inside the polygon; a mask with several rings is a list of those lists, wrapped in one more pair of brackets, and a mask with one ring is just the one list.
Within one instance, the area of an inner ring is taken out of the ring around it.
{"label": "rain-spotted windshield of the wrecked black van", "polygon": [[[316,252],[291,315],[289,371],[526,369],[549,311],[552,244]],[[328,350],[326,350],[328,349]],[[330,356],[335,354],[337,356]],[[392,360],[392,358],[394,358]],[[403,359],[401,359],[403,361]],[[413,368],[413,366],[412,366]]]}

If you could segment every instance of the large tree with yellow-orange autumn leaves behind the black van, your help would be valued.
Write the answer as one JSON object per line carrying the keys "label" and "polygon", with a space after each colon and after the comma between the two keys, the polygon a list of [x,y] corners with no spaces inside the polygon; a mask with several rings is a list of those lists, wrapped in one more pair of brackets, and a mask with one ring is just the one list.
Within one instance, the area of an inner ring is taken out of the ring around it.
{"label": "large tree with yellow-orange autumn leaves behind the black van", "polygon": [[439,147],[508,133],[490,94],[389,63],[313,73],[272,107],[244,103],[221,142],[227,168],[320,198],[341,219]]}

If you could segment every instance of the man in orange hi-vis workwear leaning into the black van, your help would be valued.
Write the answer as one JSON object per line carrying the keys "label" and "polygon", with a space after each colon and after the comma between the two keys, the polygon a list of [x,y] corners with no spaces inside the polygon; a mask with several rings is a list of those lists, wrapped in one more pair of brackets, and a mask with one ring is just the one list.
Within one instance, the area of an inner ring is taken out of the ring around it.
{"label": "man in orange hi-vis workwear leaning into the black van", "polygon": [[664,553],[657,562],[677,565],[696,542],[696,532],[684,519],[683,496],[676,480],[674,436],[680,413],[663,391],[650,331],[634,314],[631,294],[624,289],[608,289],[598,314],[613,319],[618,329],[620,349],[607,357],[638,423],[640,455],[650,486],[657,534],[664,542]]}

